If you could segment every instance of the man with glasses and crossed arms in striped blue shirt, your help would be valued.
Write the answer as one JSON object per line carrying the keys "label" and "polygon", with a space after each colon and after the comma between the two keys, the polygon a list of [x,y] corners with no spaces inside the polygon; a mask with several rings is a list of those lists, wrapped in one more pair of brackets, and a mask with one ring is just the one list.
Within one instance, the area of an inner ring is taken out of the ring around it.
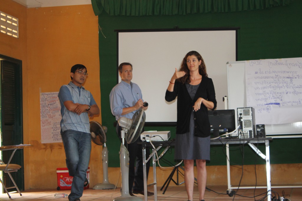
{"label": "man with glasses and crossed arms in striped blue shirt", "polygon": [[[61,136],[69,175],[73,177],[69,201],[80,200],[84,186],[88,185],[86,171],[90,160],[91,134],[89,116],[100,113],[92,94],[82,86],[87,78],[82,64],[72,66],[71,80],[60,88]],[[89,115],[89,116],[88,116]]]}

